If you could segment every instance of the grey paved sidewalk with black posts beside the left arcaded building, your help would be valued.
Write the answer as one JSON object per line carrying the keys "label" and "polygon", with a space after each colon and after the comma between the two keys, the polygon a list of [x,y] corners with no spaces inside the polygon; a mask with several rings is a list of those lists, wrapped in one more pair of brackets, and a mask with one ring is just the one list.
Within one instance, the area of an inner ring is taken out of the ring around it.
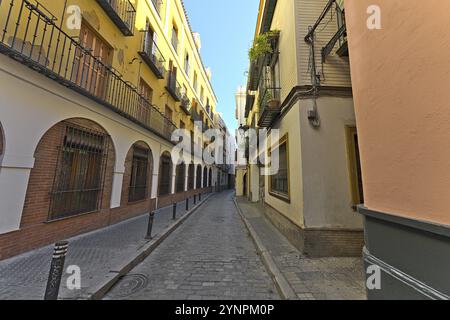
{"label": "grey paved sidewalk with black posts beside the left arcaded building", "polygon": [[[203,195],[203,202],[210,195]],[[190,209],[193,199],[190,199]],[[153,236],[174,224],[172,206],[155,213]],[[177,220],[186,215],[185,202],[177,205]],[[127,262],[130,257],[149,243],[148,213],[94,232],[68,239],[69,252],[65,267],[81,268],[81,290],[71,291],[65,286],[67,274],[61,282],[61,299],[85,297],[89,288],[97,286],[110,270]],[[0,261],[0,300],[42,300],[45,293],[53,245]]]}

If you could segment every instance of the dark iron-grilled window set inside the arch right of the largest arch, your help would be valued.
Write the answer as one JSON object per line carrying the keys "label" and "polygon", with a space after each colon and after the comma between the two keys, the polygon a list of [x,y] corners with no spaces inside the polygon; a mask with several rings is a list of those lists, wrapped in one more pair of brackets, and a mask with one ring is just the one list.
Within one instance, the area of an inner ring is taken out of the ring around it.
{"label": "dark iron-grilled window set inside the arch right of the largest arch", "polygon": [[131,165],[130,191],[128,201],[136,202],[147,198],[149,151],[133,147],[133,162]]}

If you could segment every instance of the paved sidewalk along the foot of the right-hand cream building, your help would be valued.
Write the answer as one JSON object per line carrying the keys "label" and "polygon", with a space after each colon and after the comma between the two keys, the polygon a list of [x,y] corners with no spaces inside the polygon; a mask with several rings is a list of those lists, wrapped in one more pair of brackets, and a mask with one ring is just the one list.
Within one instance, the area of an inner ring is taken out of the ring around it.
{"label": "paved sidewalk along the foot of the right-hand cream building", "polygon": [[299,299],[366,299],[361,258],[307,258],[263,216],[262,206],[237,202]]}

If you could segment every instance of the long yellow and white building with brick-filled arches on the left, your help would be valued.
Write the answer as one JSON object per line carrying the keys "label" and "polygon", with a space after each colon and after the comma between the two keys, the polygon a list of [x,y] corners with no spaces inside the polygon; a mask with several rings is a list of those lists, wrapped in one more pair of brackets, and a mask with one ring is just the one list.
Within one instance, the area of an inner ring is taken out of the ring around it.
{"label": "long yellow and white building with brick-filled arches on the left", "polygon": [[218,128],[182,1],[0,1],[0,25],[0,259],[215,189],[171,158]]}

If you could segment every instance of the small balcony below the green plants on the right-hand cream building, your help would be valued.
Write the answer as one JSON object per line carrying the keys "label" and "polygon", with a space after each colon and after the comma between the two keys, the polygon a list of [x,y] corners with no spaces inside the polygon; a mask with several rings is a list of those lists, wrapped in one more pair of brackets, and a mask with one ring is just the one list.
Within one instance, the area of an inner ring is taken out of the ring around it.
{"label": "small balcony below the green plants on the right-hand cream building", "polygon": [[280,88],[263,88],[261,92],[258,126],[269,128],[281,113]]}

